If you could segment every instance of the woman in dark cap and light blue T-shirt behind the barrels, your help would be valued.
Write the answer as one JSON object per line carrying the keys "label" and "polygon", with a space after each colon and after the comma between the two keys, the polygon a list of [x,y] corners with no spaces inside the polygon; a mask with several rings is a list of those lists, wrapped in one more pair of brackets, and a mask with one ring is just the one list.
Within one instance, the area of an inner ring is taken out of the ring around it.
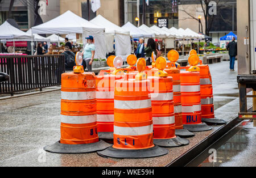
{"label": "woman in dark cap and light blue T-shirt behind the barrels", "polygon": [[93,36],[88,36],[85,38],[87,40],[87,44],[84,47],[84,50],[82,51],[82,65],[85,65],[87,68],[87,71],[92,72],[92,63],[94,60],[94,54],[95,54],[95,45]]}

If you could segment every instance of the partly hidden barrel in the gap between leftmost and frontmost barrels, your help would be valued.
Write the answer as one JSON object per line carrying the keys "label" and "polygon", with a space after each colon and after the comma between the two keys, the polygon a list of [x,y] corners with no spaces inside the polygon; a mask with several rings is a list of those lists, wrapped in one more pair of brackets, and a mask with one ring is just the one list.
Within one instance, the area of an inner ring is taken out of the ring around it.
{"label": "partly hidden barrel in the gap between leftmost and frontmost barrels", "polygon": [[96,103],[98,137],[113,139],[114,131],[114,83],[122,75],[98,75],[96,77]]}

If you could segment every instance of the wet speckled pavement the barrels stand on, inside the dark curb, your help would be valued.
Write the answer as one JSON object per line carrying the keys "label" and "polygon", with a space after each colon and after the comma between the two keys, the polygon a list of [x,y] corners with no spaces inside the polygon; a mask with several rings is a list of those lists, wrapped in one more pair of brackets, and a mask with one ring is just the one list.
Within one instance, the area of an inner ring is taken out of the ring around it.
{"label": "wet speckled pavement the barrels stand on, inside the dark curb", "polygon": [[[231,120],[238,113],[237,72],[229,61],[209,65],[213,79],[215,114]],[[248,100],[251,105],[251,100]],[[170,148],[169,154],[147,159],[103,158],[96,153],[54,154],[43,147],[60,139],[60,91],[1,100],[0,166],[166,166],[221,126],[195,133],[187,146]]]}

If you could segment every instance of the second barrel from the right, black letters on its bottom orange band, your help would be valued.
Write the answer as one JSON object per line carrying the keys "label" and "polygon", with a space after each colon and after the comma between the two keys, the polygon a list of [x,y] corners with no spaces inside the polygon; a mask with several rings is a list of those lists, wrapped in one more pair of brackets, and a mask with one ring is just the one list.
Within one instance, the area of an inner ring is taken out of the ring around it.
{"label": "second barrel from the right, black letters on its bottom orange band", "polygon": [[201,121],[200,69],[193,69],[180,73],[183,126],[191,132],[211,130]]}

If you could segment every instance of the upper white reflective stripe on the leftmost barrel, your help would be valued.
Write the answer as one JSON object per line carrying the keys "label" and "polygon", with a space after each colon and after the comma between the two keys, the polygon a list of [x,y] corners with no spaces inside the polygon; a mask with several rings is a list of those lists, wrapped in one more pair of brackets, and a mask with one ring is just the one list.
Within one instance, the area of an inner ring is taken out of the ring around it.
{"label": "upper white reflective stripe on the leftmost barrel", "polygon": [[85,91],[85,92],[61,91],[61,99],[63,99],[63,100],[92,100],[92,99],[96,99],[96,92],[95,91]]}

